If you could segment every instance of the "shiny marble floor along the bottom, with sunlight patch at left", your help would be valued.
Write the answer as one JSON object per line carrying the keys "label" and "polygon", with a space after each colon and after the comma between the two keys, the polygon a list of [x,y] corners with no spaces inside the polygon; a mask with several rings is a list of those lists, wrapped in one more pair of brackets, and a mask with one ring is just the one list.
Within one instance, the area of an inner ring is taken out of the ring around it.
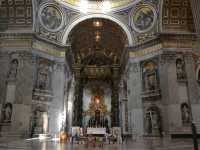
{"label": "shiny marble floor along the bottom, with sunlight patch at left", "polygon": [[0,140],[0,150],[193,150],[191,140],[144,139],[129,140],[121,145],[104,144],[100,147],[86,147],[83,144],[60,143],[52,139]]}

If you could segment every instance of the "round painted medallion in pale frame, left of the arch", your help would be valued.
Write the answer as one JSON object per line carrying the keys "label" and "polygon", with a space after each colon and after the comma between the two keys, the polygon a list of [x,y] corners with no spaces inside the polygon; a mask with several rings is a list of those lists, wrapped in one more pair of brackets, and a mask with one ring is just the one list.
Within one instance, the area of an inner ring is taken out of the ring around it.
{"label": "round painted medallion in pale frame, left of the arch", "polygon": [[59,30],[62,20],[62,13],[55,6],[46,6],[40,12],[41,24],[49,31]]}

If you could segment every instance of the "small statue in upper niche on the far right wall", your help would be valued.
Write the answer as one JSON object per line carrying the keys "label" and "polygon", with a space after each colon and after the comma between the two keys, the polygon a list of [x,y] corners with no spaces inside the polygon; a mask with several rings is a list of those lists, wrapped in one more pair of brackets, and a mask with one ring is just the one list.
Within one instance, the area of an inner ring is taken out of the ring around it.
{"label": "small statue in upper niche on the far right wall", "polygon": [[176,72],[177,72],[177,79],[183,80],[185,79],[185,70],[184,70],[184,61],[183,59],[177,59],[176,60]]}

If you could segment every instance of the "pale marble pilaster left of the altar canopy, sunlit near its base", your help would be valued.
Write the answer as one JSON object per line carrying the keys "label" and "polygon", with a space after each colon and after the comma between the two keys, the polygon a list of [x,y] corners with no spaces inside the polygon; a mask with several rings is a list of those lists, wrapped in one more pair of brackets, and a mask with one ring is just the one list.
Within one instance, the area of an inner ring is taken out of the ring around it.
{"label": "pale marble pilaster left of the altar canopy, sunlit near its base", "polygon": [[49,108],[49,133],[58,134],[63,128],[65,63],[55,62],[52,71],[53,98]]}

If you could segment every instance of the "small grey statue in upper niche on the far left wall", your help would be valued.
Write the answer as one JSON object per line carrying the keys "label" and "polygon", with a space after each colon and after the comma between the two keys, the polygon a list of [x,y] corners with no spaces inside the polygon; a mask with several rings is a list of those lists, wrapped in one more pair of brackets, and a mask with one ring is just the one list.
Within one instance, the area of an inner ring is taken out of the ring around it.
{"label": "small grey statue in upper niche on the far left wall", "polygon": [[17,76],[17,69],[18,69],[19,62],[17,59],[13,59],[10,64],[10,69],[8,73],[9,79],[15,79]]}

